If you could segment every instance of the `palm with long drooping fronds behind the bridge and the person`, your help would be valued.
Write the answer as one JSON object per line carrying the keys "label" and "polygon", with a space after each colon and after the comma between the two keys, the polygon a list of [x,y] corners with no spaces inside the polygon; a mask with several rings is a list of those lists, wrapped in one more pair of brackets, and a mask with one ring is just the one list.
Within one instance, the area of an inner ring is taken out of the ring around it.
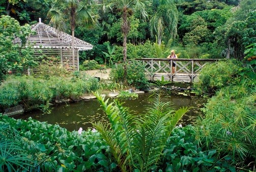
{"label": "palm with long drooping fronds behind the bridge and the person", "polygon": [[157,34],[158,45],[161,45],[163,31],[166,28],[169,32],[169,39],[177,35],[178,10],[172,0],[154,0],[154,14],[150,18],[151,35]]}

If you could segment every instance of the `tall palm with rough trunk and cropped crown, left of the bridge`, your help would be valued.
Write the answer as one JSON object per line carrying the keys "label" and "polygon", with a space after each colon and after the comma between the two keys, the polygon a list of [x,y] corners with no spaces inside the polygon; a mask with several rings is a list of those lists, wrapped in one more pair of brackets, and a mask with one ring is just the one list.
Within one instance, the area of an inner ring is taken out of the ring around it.
{"label": "tall palm with rough trunk and cropped crown, left of the bridge", "polygon": [[147,17],[146,6],[150,3],[149,0],[107,0],[106,7],[113,9],[122,14],[121,31],[123,33],[123,56],[124,56],[124,83],[127,84],[127,36],[130,31],[129,16],[133,15],[135,11],[139,11],[141,16],[145,19]]}

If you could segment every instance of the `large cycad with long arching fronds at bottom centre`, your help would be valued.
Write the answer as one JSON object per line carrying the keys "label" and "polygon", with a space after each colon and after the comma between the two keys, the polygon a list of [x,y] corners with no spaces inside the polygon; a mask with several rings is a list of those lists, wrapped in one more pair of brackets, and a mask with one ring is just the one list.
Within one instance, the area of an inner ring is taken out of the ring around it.
{"label": "large cycad with long arching fronds at bottom centre", "polygon": [[162,92],[155,96],[152,107],[145,114],[131,114],[128,108],[115,100],[95,93],[109,123],[94,124],[122,171],[149,171],[158,167],[167,137],[187,108],[174,111],[169,102],[161,102]]}

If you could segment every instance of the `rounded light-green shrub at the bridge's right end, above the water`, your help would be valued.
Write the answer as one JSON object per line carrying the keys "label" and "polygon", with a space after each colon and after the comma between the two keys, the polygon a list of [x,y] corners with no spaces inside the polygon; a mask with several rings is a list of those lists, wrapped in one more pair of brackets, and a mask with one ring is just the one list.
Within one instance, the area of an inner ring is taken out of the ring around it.
{"label": "rounded light-green shrub at the bridge's right end, above the water", "polygon": [[199,81],[194,84],[194,88],[200,93],[214,93],[234,82],[241,67],[242,63],[237,60],[208,64],[200,72]]}

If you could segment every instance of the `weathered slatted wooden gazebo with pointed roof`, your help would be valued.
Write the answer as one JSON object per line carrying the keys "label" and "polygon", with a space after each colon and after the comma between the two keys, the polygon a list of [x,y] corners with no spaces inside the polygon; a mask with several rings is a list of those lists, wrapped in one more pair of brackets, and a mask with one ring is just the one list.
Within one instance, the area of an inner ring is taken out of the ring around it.
{"label": "weathered slatted wooden gazebo with pointed roof", "polygon": [[44,24],[39,18],[39,22],[31,26],[32,30],[36,31],[35,35],[30,35],[27,42],[33,44],[35,49],[40,49],[41,52],[35,51],[35,56],[45,54],[48,57],[60,57],[61,64],[67,70],[79,71],[79,54],[80,50],[91,50],[93,45],[74,38],[75,59],[72,57],[72,36],[63,31],[58,31],[55,28]]}

